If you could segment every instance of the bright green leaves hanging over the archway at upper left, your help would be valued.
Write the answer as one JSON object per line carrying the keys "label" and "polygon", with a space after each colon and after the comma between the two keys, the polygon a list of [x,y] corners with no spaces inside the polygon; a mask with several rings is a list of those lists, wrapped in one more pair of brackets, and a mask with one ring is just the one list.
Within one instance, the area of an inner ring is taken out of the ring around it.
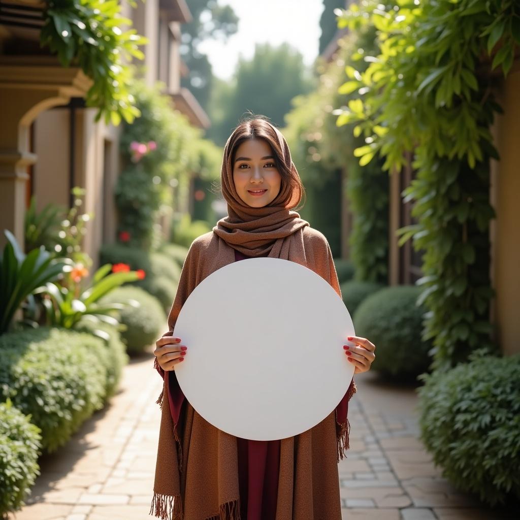
{"label": "bright green leaves hanging over the archway at upper left", "polygon": [[[136,3],[131,0],[134,7]],[[86,105],[97,107],[95,121],[105,116],[114,125],[121,118],[131,122],[139,115],[128,86],[132,84],[132,57],[142,59],[139,45],[148,39],[135,29],[121,30],[132,20],[120,15],[114,0],[47,0],[40,34],[42,47],[57,53],[63,67],[79,66],[92,79]]]}

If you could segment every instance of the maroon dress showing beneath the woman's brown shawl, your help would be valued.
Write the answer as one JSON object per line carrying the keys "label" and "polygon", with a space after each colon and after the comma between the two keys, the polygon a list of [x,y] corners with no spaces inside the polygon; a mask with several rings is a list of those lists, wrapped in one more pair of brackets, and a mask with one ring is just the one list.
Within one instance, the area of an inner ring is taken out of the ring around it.
{"label": "maroon dress showing beneath the woman's brown shawl", "polygon": [[[267,256],[267,255],[263,255]],[[252,258],[235,251],[235,261]],[[156,363],[164,379],[165,372]],[[175,371],[166,372],[168,401],[173,421],[178,424],[185,401]],[[336,407],[337,420],[344,422],[348,412],[347,394]],[[178,425],[179,431],[182,425]],[[237,437],[240,516],[243,520],[274,520],[278,497],[280,440],[249,440]]]}

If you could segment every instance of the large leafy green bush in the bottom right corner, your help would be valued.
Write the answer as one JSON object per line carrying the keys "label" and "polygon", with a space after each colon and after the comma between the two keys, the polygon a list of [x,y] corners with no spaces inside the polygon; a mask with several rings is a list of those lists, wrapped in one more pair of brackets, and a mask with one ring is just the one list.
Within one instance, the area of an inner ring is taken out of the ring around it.
{"label": "large leafy green bush in the bottom right corner", "polygon": [[474,353],[421,379],[421,436],[444,476],[491,505],[520,498],[520,355]]}

